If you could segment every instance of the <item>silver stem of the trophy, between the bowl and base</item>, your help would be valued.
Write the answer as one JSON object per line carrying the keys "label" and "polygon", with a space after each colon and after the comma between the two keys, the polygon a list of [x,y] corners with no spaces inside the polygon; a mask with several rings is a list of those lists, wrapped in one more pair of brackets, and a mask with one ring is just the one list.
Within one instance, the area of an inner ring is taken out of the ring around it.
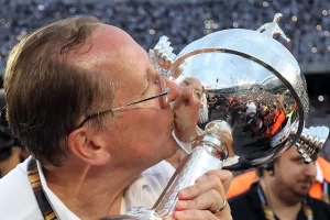
{"label": "silver stem of the trophy, between the bowl and base", "polygon": [[198,136],[193,142],[193,152],[185,156],[166,188],[153,207],[162,218],[175,211],[178,191],[195,184],[196,179],[211,169],[221,169],[228,151],[216,133]]}

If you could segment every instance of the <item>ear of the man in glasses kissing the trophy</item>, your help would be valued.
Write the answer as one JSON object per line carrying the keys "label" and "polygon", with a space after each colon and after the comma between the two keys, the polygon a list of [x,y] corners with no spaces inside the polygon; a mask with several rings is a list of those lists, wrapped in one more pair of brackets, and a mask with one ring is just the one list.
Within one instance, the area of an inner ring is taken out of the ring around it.
{"label": "ear of the man in glasses kissing the trophy", "polygon": [[73,154],[94,166],[102,166],[110,161],[110,153],[99,132],[90,128],[79,128],[68,135],[68,146]]}

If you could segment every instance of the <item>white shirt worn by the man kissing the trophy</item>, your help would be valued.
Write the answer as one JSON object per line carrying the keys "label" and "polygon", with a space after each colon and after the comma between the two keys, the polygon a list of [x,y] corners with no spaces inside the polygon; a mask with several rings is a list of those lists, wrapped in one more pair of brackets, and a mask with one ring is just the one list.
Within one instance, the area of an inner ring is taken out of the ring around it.
{"label": "white shirt worn by the man kissing the trophy", "polygon": [[[29,157],[12,172],[0,179],[0,219],[1,220],[43,220],[31,184],[28,178]],[[51,201],[56,216],[61,220],[78,220],[58,197],[47,187],[42,168],[37,163],[41,184]],[[167,182],[174,174],[174,167],[163,161],[146,169],[125,190],[120,213],[125,213],[130,207],[152,208]]]}

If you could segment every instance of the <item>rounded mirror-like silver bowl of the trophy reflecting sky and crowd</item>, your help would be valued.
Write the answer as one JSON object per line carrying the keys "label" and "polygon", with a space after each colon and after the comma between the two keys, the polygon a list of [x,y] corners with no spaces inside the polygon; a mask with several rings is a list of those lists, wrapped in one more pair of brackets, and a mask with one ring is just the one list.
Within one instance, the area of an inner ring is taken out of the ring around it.
{"label": "rounded mirror-like silver bowl of the trophy reflecting sky and crowd", "polygon": [[193,42],[166,74],[177,84],[186,78],[201,82],[200,129],[216,120],[231,127],[234,154],[226,169],[267,163],[295,144],[308,117],[298,63],[279,42],[257,31],[226,30]]}

